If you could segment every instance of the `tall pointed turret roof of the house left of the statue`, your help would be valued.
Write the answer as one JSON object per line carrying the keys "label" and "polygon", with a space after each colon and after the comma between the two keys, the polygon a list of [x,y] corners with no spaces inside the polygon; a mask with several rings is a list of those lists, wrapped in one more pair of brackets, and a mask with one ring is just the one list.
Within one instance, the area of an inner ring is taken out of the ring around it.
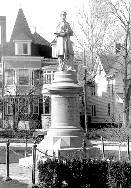
{"label": "tall pointed turret roof of the house left of the statue", "polygon": [[10,42],[15,40],[21,33],[23,33],[24,36],[27,36],[29,39],[33,39],[26,17],[23,13],[23,10],[20,8],[10,38]]}

